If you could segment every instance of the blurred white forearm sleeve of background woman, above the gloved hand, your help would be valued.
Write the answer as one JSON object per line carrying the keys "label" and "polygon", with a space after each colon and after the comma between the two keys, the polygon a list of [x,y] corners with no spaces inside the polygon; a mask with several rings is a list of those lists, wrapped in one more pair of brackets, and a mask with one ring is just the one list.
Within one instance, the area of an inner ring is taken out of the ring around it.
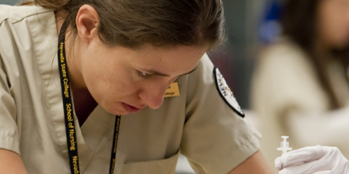
{"label": "blurred white forearm sleeve of background woman, above the gloved hand", "polygon": [[322,113],[290,111],[287,126],[303,146],[349,145],[349,106]]}

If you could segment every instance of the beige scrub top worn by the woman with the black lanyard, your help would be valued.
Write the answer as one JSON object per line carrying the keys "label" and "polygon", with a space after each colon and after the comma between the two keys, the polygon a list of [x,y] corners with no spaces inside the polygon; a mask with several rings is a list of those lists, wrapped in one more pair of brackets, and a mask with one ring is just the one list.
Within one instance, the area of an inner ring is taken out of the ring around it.
{"label": "beige scrub top worn by the woman with the black lanyard", "polygon": [[[70,173],[57,44],[52,10],[0,5],[0,148],[20,154],[29,173]],[[114,173],[174,173],[179,153],[197,173],[228,173],[259,149],[213,70],[205,55],[177,80],[180,96],[121,116]],[[98,105],[75,126],[82,173],[109,172],[114,121]]]}

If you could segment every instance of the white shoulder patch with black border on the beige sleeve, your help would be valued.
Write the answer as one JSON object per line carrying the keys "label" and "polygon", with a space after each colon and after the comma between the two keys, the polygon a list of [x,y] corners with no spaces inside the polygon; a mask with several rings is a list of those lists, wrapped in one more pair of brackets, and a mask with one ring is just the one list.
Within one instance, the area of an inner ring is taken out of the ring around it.
{"label": "white shoulder patch with black border on the beige sleeve", "polygon": [[216,80],[216,87],[219,95],[221,95],[223,100],[230,106],[230,108],[232,108],[232,110],[244,118],[244,112],[239,106],[239,103],[237,103],[234,95],[232,95],[232,90],[230,90],[227,82],[225,81],[221,72],[219,72],[218,68],[214,68],[214,79]]}

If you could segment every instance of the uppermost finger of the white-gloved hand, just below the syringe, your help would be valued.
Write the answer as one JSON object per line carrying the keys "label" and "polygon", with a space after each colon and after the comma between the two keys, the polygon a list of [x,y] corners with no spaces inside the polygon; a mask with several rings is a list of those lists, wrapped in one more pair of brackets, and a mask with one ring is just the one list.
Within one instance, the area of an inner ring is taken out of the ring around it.
{"label": "uppermost finger of the white-gloved hand, just below the syringe", "polygon": [[281,156],[283,166],[294,166],[296,164],[315,161],[324,157],[330,151],[329,147],[320,145],[292,150]]}

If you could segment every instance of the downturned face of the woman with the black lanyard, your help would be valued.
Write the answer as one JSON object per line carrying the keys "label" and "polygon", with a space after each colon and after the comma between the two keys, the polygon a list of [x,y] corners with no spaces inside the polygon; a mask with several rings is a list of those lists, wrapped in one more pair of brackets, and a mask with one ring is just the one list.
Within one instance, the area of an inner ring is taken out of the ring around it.
{"label": "downturned face of the woman with the black lanyard", "polygon": [[203,47],[128,49],[93,41],[81,53],[80,73],[103,109],[125,115],[161,106],[166,88],[181,74],[195,70],[205,52]]}

